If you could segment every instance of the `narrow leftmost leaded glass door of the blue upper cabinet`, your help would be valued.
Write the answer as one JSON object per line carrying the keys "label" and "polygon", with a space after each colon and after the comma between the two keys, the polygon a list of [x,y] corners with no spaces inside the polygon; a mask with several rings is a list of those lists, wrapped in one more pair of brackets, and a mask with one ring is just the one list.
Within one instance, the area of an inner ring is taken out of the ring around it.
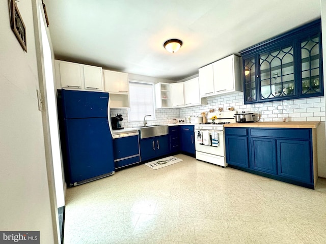
{"label": "narrow leftmost leaded glass door of the blue upper cabinet", "polygon": [[244,102],[257,101],[255,56],[243,59],[244,64]]}

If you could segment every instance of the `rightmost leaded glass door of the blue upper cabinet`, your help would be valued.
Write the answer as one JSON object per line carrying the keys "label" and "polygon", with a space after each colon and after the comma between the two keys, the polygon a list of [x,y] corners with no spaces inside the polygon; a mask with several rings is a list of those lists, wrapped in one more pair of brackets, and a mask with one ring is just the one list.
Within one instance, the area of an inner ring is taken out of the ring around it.
{"label": "rightmost leaded glass door of the blue upper cabinet", "polygon": [[320,38],[319,34],[301,41],[301,82],[302,95],[320,96],[322,82],[320,72]]}

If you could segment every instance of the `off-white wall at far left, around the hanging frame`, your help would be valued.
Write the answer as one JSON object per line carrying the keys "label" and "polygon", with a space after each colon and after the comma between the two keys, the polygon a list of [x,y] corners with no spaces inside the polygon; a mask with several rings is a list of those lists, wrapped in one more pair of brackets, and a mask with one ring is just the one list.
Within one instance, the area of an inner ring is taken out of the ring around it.
{"label": "off-white wall at far left, around the hanging frame", "polygon": [[36,96],[32,1],[18,2],[27,53],[10,28],[9,3],[0,2],[0,230],[40,231],[40,243],[57,243]]}

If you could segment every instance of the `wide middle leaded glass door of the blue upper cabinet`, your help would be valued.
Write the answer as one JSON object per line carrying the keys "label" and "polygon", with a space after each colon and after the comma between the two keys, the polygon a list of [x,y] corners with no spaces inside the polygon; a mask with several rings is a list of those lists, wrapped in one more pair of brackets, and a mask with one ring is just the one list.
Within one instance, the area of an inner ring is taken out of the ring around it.
{"label": "wide middle leaded glass door of the blue upper cabinet", "polygon": [[295,95],[293,46],[259,55],[260,98],[279,100]]}

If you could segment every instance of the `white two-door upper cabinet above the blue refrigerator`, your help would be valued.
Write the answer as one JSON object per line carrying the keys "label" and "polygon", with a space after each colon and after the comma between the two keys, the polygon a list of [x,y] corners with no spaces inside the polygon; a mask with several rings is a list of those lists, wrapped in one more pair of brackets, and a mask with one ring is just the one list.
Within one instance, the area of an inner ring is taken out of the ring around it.
{"label": "white two-door upper cabinet above the blue refrigerator", "polygon": [[102,68],[55,60],[58,89],[103,90]]}

